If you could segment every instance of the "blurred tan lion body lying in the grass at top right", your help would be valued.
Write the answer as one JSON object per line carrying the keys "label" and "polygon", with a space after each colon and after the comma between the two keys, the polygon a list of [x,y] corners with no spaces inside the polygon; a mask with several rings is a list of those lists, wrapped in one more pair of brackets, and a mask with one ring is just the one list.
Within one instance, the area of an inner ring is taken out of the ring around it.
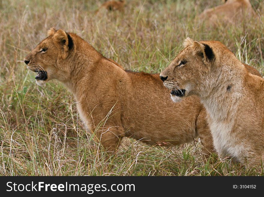
{"label": "blurred tan lion body lying in the grass at top right", "polygon": [[197,16],[206,25],[219,25],[241,22],[242,19],[256,16],[249,0],[228,0],[222,5],[205,9]]}

